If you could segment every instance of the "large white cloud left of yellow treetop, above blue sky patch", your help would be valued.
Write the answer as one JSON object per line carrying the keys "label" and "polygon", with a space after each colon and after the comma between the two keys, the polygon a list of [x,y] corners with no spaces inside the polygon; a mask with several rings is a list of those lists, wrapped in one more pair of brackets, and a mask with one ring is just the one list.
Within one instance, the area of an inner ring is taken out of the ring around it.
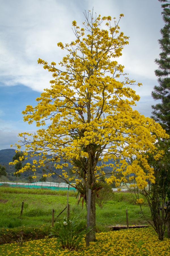
{"label": "large white cloud left of yellow treetop, above blue sky patch", "polygon": [[55,0],[7,1],[1,9],[0,76],[6,85],[24,84],[33,90],[49,87],[51,73],[37,64],[41,57],[49,62],[64,54],[57,42],[73,39],[71,22],[76,5]]}

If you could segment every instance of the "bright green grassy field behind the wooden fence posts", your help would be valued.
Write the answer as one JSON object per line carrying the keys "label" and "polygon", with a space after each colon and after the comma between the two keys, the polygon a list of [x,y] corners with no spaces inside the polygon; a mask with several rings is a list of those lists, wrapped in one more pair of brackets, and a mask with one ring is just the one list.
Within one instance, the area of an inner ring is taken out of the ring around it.
{"label": "bright green grassy field behind the wooden fence posts", "polygon": [[[52,209],[55,210],[55,216],[57,216],[67,204],[66,195],[67,191],[0,187],[0,228],[50,225]],[[24,209],[22,218],[20,218],[22,201],[24,201]],[[71,216],[79,215],[80,218],[86,218],[86,208],[82,209],[81,205],[77,205],[76,192],[69,191],[69,204]],[[105,231],[108,225],[126,224],[126,208],[129,224],[146,223],[139,205],[135,203],[130,193],[114,192],[112,200],[108,201],[102,209],[96,205],[97,230]],[[143,211],[150,218],[146,204]],[[59,218],[65,215],[66,211]]]}

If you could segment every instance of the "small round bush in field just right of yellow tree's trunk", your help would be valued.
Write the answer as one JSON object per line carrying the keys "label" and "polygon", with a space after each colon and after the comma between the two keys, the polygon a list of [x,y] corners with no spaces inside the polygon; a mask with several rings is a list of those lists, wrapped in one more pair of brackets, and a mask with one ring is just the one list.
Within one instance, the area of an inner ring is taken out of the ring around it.
{"label": "small round bush in field just right of yellow tree's trunk", "polygon": [[99,190],[98,195],[96,196],[96,204],[103,208],[103,205],[107,203],[110,199],[112,199],[113,191],[109,184],[101,183],[102,189]]}

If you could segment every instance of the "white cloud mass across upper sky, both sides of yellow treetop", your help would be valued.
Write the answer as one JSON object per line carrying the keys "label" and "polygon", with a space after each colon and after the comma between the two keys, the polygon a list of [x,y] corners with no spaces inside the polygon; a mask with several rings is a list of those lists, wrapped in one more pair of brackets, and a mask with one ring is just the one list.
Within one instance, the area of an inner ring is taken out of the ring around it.
{"label": "white cloud mass across upper sky, both sides of yellow treetop", "polygon": [[[154,59],[159,54],[157,40],[162,25],[161,9],[154,0],[111,1],[55,1],[8,0],[1,2],[0,76],[6,85],[24,84],[42,91],[50,86],[51,73],[37,64],[41,57],[49,62],[59,62],[64,54],[57,42],[74,40],[71,22],[84,20],[84,9],[101,15],[125,17],[120,22],[121,31],[130,36],[129,46],[123,51],[120,63],[131,75],[155,79]],[[140,9],[140,12],[139,12]],[[158,16],[159,13],[159,16]],[[161,21],[161,22],[160,22]],[[151,33],[152,31],[152,33]]]}

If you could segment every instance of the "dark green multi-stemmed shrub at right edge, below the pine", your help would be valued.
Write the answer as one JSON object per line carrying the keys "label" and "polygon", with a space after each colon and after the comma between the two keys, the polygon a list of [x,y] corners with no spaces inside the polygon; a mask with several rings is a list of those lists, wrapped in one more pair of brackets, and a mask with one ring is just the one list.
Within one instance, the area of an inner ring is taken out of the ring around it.
{"label": "dark green multi-stemmed shrub at right edge, below the pine", "polygon": [[[159,240],[163,240],[167,226],[167,236],[170,238],[170,141],[169,139],[158,140],[156,142],[157,150],[155,152],[146,152],[148,164],[154,169],[154,183],[150,182],[150,187],[138,189],[135,184],[135,178],[130,191],[136,198],[141,212],[148,223],[154,228],[158,234]],[[145,167],[143,166],[144,172]],[[128,178],[127,178],[128,179]],[[147,219],[143,213],[144,199],[140,198],[141,193],[145,196],[152,221]]]}

